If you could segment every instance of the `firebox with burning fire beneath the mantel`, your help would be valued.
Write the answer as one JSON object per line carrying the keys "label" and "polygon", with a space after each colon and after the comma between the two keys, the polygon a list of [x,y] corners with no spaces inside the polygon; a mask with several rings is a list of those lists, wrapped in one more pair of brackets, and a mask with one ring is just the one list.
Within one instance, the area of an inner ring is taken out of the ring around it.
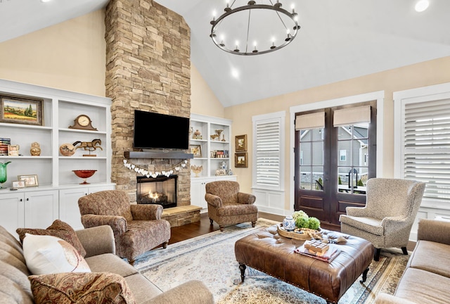
{"label": "firebox with burning fire beneath the mantel", "polygon": [[137,203],[158,204],[162,208],[176,207],[177,179],[178,175],[137,177]]}

